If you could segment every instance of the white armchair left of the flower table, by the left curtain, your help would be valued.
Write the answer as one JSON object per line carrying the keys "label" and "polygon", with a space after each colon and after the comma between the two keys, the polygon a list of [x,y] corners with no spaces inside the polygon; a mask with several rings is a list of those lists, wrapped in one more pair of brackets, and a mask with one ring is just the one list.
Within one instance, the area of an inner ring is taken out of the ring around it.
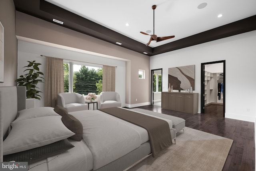
{"label": "white armchair left of the flower table, by the left curtain", "polygon": [[64,107],[68,112],[88,109],[84,96],[78,93],[59,93],[58,105]]}

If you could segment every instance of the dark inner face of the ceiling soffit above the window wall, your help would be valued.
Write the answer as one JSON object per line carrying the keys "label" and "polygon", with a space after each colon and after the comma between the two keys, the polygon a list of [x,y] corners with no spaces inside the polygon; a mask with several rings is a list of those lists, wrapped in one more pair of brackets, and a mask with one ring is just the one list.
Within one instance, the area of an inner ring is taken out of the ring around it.
{"label": "dark inner face of the ceiling soffit above the window wall", "polygon": [[[152,48],[145,46],[145,44],[142,44],[127,36],[114,32],[109,28],[106,28],[104,26],[101,26],[100,24],[87,20],[86,18],[78,16],[72,12],[64,10],[63,8],[55,6],[54,4],[51,4],[44,0],[40,0],[40,10],[52,14],[53,16],[57,16],[57,18],[60,18],[59,20],[64,22],[64,24],[61,26],[64,26],[66,28],[76,30],[89,36],[104,40],[106,42],[110,42],[112,44],[120,42],[122,43],[121,47],[139,53],[152,53],[153,51]],[[46,18],[46,20],[47,19],[48,21],[52,22],[52,18]]]}

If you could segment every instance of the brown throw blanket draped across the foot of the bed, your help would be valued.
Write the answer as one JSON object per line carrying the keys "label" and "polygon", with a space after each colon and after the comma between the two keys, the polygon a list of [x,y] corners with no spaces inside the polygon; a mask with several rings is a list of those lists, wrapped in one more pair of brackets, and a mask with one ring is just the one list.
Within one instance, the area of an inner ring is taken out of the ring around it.
{"label": "brown throw blanket draped across the foot of the bed", "polygon": [[169,124],[162,119],[119,107],[110,107],[99,110],[146,129],[148,131],[153,157],[155,157],[161,150],[172,145]]}

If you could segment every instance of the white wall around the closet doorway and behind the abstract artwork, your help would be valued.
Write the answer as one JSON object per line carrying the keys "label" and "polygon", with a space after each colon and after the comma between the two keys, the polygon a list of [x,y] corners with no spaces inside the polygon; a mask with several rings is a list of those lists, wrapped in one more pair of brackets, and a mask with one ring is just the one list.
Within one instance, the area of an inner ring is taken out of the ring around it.
{"label": "white wall around the closet doorway and behind the abstract artwork", "polygon": [[163,90],[168,91],[168,68],[195,65],[195,93],[199,93],[201,63],[226,60],[225,117],[255,121],[256,31],[150,57],[150,70],[163,68]]}

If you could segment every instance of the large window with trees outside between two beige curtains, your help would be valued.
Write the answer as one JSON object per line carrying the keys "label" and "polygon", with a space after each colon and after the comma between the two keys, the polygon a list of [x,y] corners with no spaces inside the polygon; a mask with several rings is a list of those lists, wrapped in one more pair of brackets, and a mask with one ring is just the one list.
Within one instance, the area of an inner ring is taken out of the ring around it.
{"label": "large window with trees outside between two beige curtains", "polygon": [[64,61],[64,92],[102,92],[102,65]]}

